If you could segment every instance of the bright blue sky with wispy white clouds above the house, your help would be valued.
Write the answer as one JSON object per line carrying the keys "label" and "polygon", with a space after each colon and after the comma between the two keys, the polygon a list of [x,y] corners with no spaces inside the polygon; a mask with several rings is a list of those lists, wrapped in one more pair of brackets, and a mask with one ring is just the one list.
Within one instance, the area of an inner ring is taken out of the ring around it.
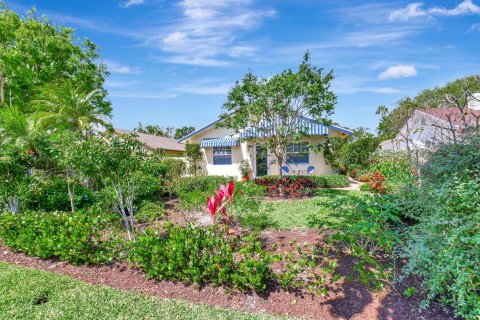
{"label": "bright blue sky with wispy white clouds above the house", "polygon": [[333,69],[332,119],[375,130],[379,105],[480,73],[480,0],[26,0],[100,46],[113,123],[200,127],[248,71]]}

